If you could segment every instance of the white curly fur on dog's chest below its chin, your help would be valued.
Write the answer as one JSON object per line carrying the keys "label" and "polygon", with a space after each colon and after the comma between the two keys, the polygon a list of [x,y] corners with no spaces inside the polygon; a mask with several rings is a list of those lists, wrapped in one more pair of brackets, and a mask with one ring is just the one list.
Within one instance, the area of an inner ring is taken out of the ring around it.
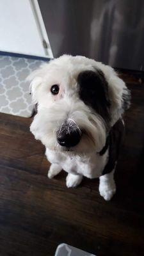
{"label": "white curly fur on dog's chest below its chin", "polygon": [[51,163],[60,164],[65,172],[81,174],[90,179],[99,177],[108,161],[108,152],[103,156],[93,153],[80,157],[46,149],[46,156]]}

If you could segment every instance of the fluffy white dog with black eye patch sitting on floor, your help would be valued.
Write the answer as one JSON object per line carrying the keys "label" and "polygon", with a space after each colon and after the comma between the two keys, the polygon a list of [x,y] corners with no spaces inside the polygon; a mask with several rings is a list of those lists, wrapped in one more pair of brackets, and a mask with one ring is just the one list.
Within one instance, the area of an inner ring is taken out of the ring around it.
{"label": "fluffy white dog with black eye patch sitting on floor", "polygon": [[37,113],[30,131],[45,145],[48,177],[65,170],[74,188],[99,177],[99,192],[116,192],[114,172],[124,136],[130,92],[115,70],[84,56],[63,55],[29,76]]}

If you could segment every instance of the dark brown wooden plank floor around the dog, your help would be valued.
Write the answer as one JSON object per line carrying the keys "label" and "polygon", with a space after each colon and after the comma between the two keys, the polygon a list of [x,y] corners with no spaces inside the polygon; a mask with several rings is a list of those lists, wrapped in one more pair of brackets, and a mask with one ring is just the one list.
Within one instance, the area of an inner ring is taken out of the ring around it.
{"label": "dark brown wooden plank floor around the dog", "polygon": [[99,195],[99,180],[67,189],[66,174],[47,179],[44,147],[31,118],[0,114],[0,255],[53,256],[68,243],[111,256],[144,255],[144,84],[123,74],[132,90],[126,136],[116,169],[117,192]]}

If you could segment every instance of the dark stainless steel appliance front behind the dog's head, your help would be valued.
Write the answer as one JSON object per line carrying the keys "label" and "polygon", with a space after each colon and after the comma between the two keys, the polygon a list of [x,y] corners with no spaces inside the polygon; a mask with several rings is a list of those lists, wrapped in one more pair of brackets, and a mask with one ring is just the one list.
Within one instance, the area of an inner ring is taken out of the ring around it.
{"label": "dark stainless steel appliance front behind the dog's head", "polygon": [[144,70],[143,0],[38,0],[54,57]]}

